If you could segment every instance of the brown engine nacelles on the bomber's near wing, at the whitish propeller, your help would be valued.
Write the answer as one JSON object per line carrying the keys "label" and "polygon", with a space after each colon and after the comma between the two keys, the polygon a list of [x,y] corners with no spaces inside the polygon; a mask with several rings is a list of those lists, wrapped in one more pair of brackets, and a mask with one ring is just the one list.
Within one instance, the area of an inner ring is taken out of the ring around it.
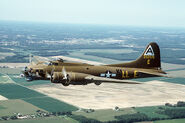
{"label": "brown engine nacelles on the bomber's near wing, at the whitish propeller", "polygon": [[84,82],[86,76],[87,74],[84,73],[68,72],[65,77],[62,72],[53,72],[51,75],[51,82],[62,83],[64,86],[68,86],[71,82]]}

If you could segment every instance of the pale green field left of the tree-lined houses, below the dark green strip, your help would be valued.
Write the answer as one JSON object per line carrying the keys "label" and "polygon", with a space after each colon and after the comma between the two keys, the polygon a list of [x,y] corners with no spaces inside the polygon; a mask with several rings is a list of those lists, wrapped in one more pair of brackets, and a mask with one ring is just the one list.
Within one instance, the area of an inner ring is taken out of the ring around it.
{"label": "pale green field left of the tree-lined houses, below the dark green strip", "polygon": [[35,114],[37,110],[45,111],[19,99],[0,101],[0,117],[12,116],[14,113]]}

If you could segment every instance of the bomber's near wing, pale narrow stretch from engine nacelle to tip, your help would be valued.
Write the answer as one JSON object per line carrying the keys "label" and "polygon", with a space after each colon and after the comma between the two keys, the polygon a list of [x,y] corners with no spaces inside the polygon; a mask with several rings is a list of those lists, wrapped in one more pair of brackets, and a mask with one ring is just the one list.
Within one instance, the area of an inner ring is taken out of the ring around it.
{"label": "bomber's near wing, pale narrow stretch from engine nacelle to tip", "polygon": [[85,77],[85,79],[92,82],[101,82],[101,83],[142,84],[141,82],[136,82],[132,80],[119,80],[119,79],[104,78],[104,77],[97,77],[97,76],[91,76],[91,75]]}

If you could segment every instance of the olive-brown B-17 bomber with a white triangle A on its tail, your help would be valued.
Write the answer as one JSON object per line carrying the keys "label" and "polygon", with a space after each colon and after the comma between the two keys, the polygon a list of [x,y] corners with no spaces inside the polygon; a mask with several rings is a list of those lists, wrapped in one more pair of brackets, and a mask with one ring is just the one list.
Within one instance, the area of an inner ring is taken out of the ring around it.
{"label": "olive-brown B-17 bomber with a white triangle A on its tail", "polygon": [[86,85],[95,83],[140,84],[133,78],[163,77],[161,69],[160,49],[157,43],[151,42],[143,54],[135,61],[120,64],[91,65],[86,63],[65,62],[62,59],[50,61],[49,64],[39,62],[24,68],[23,74],[28,81],[50,79],[52,83],[64,86]]}

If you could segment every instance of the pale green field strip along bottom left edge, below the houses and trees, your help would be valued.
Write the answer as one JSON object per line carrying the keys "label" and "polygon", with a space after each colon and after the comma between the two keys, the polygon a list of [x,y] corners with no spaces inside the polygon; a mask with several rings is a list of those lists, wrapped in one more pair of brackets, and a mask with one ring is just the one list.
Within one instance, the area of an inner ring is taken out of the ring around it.
{"label": "pale green field strip along bottom left edge, below the houses and trees", "polygon": [[0,121],[1,123],[78,123],[70,117],[44,117],[36,119]]}

